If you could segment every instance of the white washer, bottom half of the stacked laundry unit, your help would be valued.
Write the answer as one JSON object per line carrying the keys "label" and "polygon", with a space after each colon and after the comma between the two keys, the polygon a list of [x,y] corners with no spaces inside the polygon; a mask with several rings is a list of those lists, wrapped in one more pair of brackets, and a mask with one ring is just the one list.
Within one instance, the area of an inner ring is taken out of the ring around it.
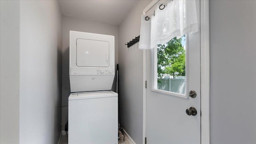
{"label": "white washer, bottom half of the stacked laundry unit", "polygon": [[118,144],[117,93],[71,93],[68,106],[69,144]]}

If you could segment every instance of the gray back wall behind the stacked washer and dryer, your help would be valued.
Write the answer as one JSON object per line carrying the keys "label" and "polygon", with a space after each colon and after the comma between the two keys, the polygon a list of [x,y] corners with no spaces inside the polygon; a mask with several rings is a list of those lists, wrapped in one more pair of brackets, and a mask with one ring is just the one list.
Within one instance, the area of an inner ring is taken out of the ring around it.
{"label": "gray back wall behind the stacked washer and dryer", "polygon": [[[63,16],[63,41],[62,41],[62,130],[68,120],[68,96],[70,95],[69,83],[69,31],[90,32],[96,34],[106,34],[115,37],[115,65],[118,63],[118,26],[101,22],[93,22]],[[116,79],[112,87],[116,91]]]}

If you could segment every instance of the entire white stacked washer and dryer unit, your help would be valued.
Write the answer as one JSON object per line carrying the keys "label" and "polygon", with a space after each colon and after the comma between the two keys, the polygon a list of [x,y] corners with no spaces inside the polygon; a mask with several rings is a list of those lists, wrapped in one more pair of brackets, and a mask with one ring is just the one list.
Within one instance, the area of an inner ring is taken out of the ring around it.
{"label": "entire white stacked washer and dryer unit", "polygon": [[69,144],[118,144],[114,36],[70,31]]}

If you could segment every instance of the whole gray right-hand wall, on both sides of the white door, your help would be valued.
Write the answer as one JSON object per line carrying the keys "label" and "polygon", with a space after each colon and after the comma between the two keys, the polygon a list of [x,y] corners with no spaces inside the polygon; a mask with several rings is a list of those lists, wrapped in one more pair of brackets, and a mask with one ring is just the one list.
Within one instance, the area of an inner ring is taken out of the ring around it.
{"label": "whole gray right-hand wall, on both sides of the white door", "polygon": [[[119,25],[121,125],[142,143],[142,51],[124,45],[140,34],[138,1]],[[210,0],[210,121],[213,144],[256,143],[256,1]],[[245,77],[250,77],[246,79]]]}

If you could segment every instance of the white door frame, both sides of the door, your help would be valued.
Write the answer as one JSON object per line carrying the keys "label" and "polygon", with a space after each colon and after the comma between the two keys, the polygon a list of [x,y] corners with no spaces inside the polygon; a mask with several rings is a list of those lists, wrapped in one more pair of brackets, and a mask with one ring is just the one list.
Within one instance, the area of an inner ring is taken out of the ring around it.
{"label": "white door frame, both sides of the door", "polygon": [[[152,2],[143,10],[145,15],[160,0]],[[210,144],[210,12],[209,0],[200,0],[200,65],[201,65],[201,144]],[[143,50],[143,81],[146,81],[146,53]],[[146,137],[146,83],[143,82],[143,132]]]}

